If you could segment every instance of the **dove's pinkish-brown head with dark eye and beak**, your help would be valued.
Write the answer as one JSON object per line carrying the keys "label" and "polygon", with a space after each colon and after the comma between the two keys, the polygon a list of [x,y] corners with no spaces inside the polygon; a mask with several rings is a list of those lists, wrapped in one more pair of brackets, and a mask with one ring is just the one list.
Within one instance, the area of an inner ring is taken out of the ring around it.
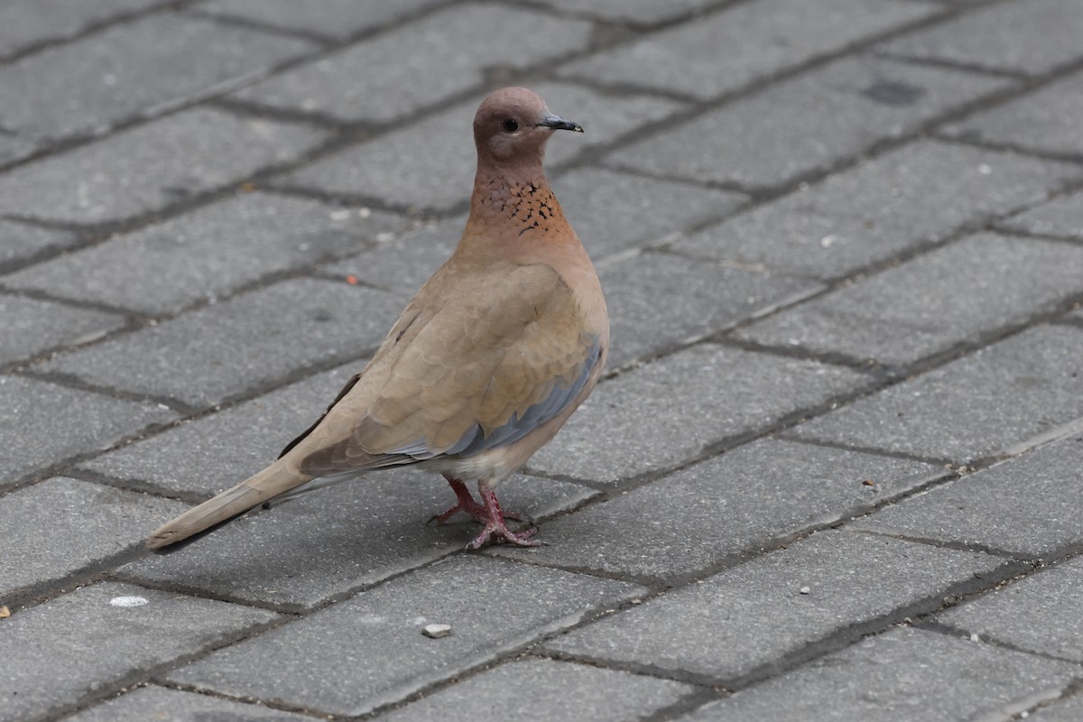
{"label": "dove's pinkish-brown head with dark eye and beak", "polygon": [[550,113],[533,91],[503,88],[486,97],[474,116],[478,159],[483,165],[540,165],[554,130],[582,133],[583,127]]}

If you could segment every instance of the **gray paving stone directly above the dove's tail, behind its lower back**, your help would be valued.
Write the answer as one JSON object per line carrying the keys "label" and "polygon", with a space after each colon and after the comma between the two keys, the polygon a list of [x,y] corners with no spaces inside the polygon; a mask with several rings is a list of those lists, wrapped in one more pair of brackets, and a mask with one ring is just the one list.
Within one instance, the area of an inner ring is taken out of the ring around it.
{"label": "gray paving stone directly above the dove's tail, behind its lower back", "polygon": [[365,366],[350,362],[79,464],[126,482],[210,498],[278,457]]}

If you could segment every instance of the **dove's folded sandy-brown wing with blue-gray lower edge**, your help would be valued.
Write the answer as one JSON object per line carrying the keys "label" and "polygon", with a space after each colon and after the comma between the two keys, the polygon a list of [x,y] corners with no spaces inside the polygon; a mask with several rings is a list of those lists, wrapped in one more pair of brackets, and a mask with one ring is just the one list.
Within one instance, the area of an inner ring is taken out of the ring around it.
{"label": "dove's folded sandy-brown wing with blue-gray lower edge", "polygon": [[412,323],[382,385],[350,436],[318,454],[321,465],[510,443],[566,406],[598,357],[571,289],[546,265],[488,274]]}

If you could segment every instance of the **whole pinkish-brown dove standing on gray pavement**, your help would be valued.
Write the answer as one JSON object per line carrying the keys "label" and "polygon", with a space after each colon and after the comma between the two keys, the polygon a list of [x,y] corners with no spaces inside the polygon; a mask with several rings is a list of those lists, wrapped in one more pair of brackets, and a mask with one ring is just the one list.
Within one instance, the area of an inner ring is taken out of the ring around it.
{"label": "whole pinkish-brown dove standing on gray pavement", "polygon": [[[478,174],[452,257],[406,306],[365,369],[277,461],[156,529],[158,549],[321,477],[417,464],[440,472],[457,512],[512,531],[494,489],[553,437],[593,389],[609,316],[593,265],[542,168],[556,130],[583,132],[524,88],[498,90],[474,116]],[[334,480],[322,480],[324,482]],[[466,486],[477,482],[481,503]],[[290,495],[292,496],[292,495]]]}

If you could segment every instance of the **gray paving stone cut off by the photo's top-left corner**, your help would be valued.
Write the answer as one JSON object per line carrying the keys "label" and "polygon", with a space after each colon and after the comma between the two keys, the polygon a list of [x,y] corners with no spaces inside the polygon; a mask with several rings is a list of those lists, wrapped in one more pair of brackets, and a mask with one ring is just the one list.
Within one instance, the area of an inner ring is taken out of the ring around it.
{"label": "gray paving stone cut off by the photo's top-left corner", "polygon": [[161,0],[9,0],[0,5],[0,56],[47,40],[78,35],[117,15],[162,4]]}

